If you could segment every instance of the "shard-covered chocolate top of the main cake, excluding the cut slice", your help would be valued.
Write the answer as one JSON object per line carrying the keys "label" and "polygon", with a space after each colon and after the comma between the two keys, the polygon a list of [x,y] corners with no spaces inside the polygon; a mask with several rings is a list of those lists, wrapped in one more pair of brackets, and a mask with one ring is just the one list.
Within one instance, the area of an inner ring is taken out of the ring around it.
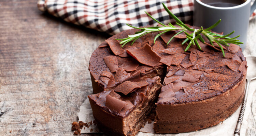
{"label": "shard-covered chocolate top of the main cake, excluding the cut slice", "polygon": [[[166,45],[177,31],[161,35],[155,44],[153,40],[158,33],[149,33],[139,38],[132,46],[128,43],[122,49],[117,47],[120,45],[114,38],[125,38],[136,31],[138,30],[131,29],[116,34],[101,43],[93,52],[89,71],[99,86],[107,89],[132,78],[140,79],[139,75],[150,75],[147,71],[163,65],[167,67],[167,75],[161,92],[167,92],[160,95],[157,104],[175,104],[199,101],[222,94],[241,81],[246,74],[246,60],[239,46],[223,46],[223,57],[216,43],[211,46],[198,40],[202,50],[192,45],[184,52],[187,46],[181,45],[185,38],[184,34],[175,36],[170,44]],[[206,37],[203,38],[206,42],[209,41]],[[143,52],[147,55],[142,54]],[[120,73],[125,76],[119,76]]]}

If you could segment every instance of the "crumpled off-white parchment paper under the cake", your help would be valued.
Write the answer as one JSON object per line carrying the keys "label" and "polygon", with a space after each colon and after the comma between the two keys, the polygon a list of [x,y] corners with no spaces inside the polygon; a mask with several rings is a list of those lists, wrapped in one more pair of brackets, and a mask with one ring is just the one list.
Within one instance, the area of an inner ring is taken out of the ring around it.
{"label": "crumpled off-white parchment paper under the cake", "polygon": [[[245,136],[246,128],[247,128],[247,119],[248,115],[251,112],[251,103],[252,96],[256,88],[256,81],[252,81],[248,90],[248,98],[243,118],[243,124],[241,126],[241,134],[240,136]],[[153,121],[151,124],[146,124],[144,128],[142,128],[137,136],[233,136],[234,129],[236,128],[238,116],[240,113],[241,105],[237,109],[237,111],[228,117],[225,121],[219,123],[216,126],[212,126],[206,129],[202,129],[199,131],[187,132],[187,133],[179,133],[179,134],[155,134],[153,130]],[[77,113],[79,117],[79,121],[83,121],[84,123],[90,124],[87,127],[81,129],[81,133],[95,133],[100,132],[97,128],[97,125],[94,122],[93,111],[91,110],[90,102],[88,98],[84,101],[84,103],[80,106],[80,111]],[[91,122],[91,123],[90,123]]]}

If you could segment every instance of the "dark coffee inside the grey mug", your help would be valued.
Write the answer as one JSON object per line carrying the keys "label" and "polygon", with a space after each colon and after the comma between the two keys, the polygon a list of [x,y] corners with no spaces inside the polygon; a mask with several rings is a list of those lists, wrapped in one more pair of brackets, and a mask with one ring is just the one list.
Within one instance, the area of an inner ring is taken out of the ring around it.
{"label": "dark coffee inside the grey mug", "polygon": [[244,0],[200,0],[201,2],[216,7],[232,7],[243,4]]}

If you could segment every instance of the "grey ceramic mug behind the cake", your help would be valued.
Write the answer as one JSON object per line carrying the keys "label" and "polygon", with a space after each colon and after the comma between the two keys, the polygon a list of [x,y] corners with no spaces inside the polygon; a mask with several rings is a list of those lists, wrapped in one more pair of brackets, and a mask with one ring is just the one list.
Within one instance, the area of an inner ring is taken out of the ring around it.
{"label": "grey ceramic mug behind the cake", "polygon": [[212,30],[224,32],[224,35],[235,31],[230,37],[241,35],[238,39],[244,43],[241,45],[243,50],[246,47],[249,17],[255,8],[256,2],[251,6],[251,0],[233,7],[215,7],[207,5],[200,0],[194,0],[193,25],[208,28],[221,19],[218,26]]}

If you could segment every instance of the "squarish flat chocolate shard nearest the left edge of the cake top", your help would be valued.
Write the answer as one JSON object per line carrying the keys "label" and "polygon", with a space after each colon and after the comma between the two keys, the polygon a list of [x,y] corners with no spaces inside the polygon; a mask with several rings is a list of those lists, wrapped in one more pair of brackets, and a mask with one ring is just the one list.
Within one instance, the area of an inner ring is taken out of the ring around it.
{"label": "squarish flat chocolate shard nearest the left edge of the cake top", "polygon": [[103,60],[105,61],[108,68],[110,69],[111,73],[116,72],[116,70],[118,69],[118,61],[116,56],[114,55],[105,56]]}

